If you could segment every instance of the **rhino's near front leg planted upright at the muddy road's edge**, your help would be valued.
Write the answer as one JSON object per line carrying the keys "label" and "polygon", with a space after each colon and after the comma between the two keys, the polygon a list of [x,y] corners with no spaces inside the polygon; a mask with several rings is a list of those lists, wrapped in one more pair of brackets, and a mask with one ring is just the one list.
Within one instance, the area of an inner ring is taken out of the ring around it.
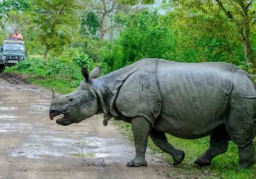
{"label": "rhino's near front leg planted upright at the muddy road's edge", "polygon": [[147,138],[149,136],[151,126],[145,118],[139,116],[131,119],[131,127],[134,134],[136,155],[134,160],[127,163],[127,167],[147,166],[145,152],[147,149]]}

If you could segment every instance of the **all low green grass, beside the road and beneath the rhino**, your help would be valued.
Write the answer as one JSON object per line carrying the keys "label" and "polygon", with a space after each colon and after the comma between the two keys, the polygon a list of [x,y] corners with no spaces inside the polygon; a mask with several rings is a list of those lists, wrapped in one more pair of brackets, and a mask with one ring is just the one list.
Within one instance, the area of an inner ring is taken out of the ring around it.
{"label": "all low green grass, beside the road and beneath the rhino", "polygon": [[[15,67],[8,67],[5,72],[25,76],[31,83],[42,85],[48,89],[55,87],[56,91],[62,94],[73,92],[79,82],[82,81],[79,67],[71,64],[62,65],[57,63],[56,65],[44,63],[42,60],[32,60]],[[122,121],[116,121],[115,124],[122,133],[128,136],[129,140],[133,141],[129,124]],[[256,165],[252,169],[239,169],[238,149],[232,142],[229,143],[226,154],[214,158],[210,167],[201,168],[194,165],[193,162],[208,149],[208,137],[198,140],[183,140],[167,135],[167,138],[174,147],[185,151],[185,160],[181,165],[170,167],[170,169],[163,169],[163,172],[167,176],[171,176],[172,178],[176,178],[176,176],[181,176],[182,178],[195,178],[195,176],[199,178],[256,178]],[[256,143],[254,144],[256,145]],[[158,149],[152,143],[152,140],[149,140],[149,148],[152,153],[161,153],[164,160],[172,163],[172,157]],[[74,156],[89,157],[90,155],[74,154]]]}

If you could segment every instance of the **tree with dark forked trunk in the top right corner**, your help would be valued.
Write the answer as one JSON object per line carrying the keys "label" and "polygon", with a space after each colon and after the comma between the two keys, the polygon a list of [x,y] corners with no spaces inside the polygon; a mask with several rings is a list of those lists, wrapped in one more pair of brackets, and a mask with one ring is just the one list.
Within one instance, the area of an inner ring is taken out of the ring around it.
{"label": "tree with dark forked trunk in the top right corner", "polygon": [[[154,0],[118,0],[120,3],[137,4],[137,3],[155,3]],[[163,2],[166,2],[163,0]],[[194,10],[202,10],[203,5],[219,6],[219,9],[236,25],[237,33],[241,36],[241,42],[244,45],[244,60],[251,63],[255,67],[255,58],[253,49],[250,44],[251,28],[256,23],[255,2],[253,0],[171,0],[169,3],[174,7],[184,6],[185,8],[194,8]],[[192,12],[193,14],[193,12]]]}

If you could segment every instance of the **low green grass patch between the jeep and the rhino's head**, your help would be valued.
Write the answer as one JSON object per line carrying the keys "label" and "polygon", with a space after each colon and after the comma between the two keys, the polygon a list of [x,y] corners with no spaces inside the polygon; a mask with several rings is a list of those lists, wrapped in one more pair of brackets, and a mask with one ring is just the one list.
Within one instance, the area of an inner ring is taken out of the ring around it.
{"label": "low green grass patch between the jeep and the rhino's head", "polygon": [[28,59],[13,67],[6,67],[4,72],[24,76],[30,83],[48,89],[54,87],[61,94],[73,92],[83,79],[79,66],[71,62],[62,63],[57,59]]}

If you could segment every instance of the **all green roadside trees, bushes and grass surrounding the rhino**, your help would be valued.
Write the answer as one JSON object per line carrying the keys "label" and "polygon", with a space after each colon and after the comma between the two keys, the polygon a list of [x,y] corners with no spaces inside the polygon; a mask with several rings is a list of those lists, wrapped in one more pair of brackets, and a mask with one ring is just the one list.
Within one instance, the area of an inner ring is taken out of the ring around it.
{"label": "all green roadside trees, bushes and grass surrounding the rhino", "polygon": [[[0,3],[0,41],[17,28],[31,55],[27,61],[6,67],[5,72],[49,89],[55,87],[62,94],[80,84],[82,66],[91,70],[100,65],[102,74],[107,74],[149,57],[189,63],[227,62],[250,74],[255,71],[253,1],[145,0],[141,4],[134,0],[54,0],[47,1],[47,6],[42,2]],[[132,140],[130,125],[116,124]],[[237,147],[232,142],[226,154],[214,158],[210,167],[200,168],[193,162],[208,148],[208,137],[167,137],[186,154],[183,164],[165,171],[167,175],[256,178],[256,166],[239,169]],[[162,153],[152,142],[149,147]],[[163,158],[172,163],[169,155],[163,154]]]}

